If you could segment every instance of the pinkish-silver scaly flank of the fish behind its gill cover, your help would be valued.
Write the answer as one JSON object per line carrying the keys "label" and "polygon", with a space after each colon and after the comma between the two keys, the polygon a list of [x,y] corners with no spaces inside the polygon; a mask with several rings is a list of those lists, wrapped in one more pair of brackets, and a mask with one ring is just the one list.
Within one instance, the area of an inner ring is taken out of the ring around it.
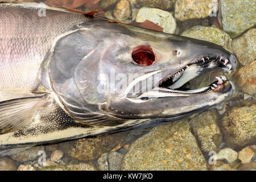
{"label": "pinkish-silver scaly flank of the fish behind its gill cover", "polygon": [[55,38],[87,19],[51,9],[39,16],[40,8],[25,7],[0,4],[0,101],[31,96]]}

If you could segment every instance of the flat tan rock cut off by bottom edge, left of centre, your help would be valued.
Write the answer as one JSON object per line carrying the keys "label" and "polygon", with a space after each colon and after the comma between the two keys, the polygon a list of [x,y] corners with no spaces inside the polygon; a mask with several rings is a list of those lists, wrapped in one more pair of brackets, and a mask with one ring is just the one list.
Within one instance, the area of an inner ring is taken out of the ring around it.
{"label": "flat tan rock cut off by bottom edge, left of centre", "polygon": [[41,171],[97,171],[91,164],[79,163],[68,164],[63,166],[47,166],[40,169]]}

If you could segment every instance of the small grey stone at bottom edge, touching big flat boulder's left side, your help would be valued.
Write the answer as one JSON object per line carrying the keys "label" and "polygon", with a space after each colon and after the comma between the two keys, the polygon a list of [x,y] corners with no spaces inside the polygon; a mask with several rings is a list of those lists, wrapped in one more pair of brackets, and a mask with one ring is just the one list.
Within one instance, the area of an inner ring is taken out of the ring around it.
{"label": "small grey stone at bottom edge, touching big flat boulder's left side", "polygon": [[108,156],[109,171],[119,171],[121,169],[123,154],[119,152],[110,152]]}

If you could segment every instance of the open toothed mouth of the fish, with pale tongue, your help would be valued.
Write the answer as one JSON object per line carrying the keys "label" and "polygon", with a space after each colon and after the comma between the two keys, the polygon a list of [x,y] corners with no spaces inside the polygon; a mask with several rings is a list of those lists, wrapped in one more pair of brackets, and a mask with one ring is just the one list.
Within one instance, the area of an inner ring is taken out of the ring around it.
{"label": "open toothed mouth of the fish, with pale tongue", "polygon": [[[225,86],[230,84],[224,75],[216,76],[216,80],[203,88],[184,89],[185,84],[207,72],[207,70],[212,70],[212,68],[222,69],[229,73],[233,70],[232,64],[228,58],[220,55],[204,55],[193,59],[187,65],[183,65],[178,71],[169,73],[160,78],[158,83],[147,92],[141,93],[136,97],[127,95],[127,98],[131,100],[147,101],[151,98],[191,96],[200,93],[222,92]],[[154,75],[150,77],[154,77]]]}

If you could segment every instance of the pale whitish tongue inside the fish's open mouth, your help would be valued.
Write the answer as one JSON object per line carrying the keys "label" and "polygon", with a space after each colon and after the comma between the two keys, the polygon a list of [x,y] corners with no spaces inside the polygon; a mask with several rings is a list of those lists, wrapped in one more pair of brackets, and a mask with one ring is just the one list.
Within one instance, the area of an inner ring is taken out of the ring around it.
{"label": "pale whitish tongue inside the fish's open mouth", "polygon": [[198,72],[199,69],[200,69],[200,67],[198,67],[197,65],[189,66],[189,68],[185,69],[185,71],[183,72],[183,75],[179,78],[179,80],[177,80],[171,86],[168,86],[168,88],[170,88],[170,89],[180,88],[186,82],[188,82],[189,80],[192,80],[193,78],[198,76],[199,75],[199,72]]}

